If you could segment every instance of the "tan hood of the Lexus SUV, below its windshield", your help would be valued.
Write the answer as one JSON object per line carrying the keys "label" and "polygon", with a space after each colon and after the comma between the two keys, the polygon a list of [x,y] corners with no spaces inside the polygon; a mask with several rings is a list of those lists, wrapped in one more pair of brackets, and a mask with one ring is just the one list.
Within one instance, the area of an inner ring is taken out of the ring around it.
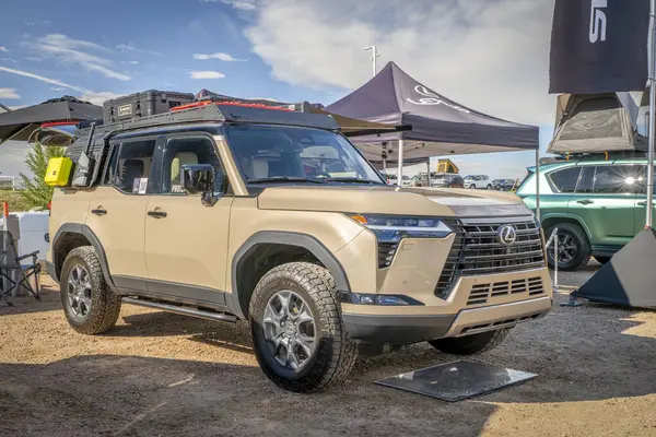
{"label": "tan hood of the Lexus SUV, below its windshield", "polygon": [[276,186],[258,196],[262,210],[432,216],[530,215],[517,196],[501,191],[389,186]]}

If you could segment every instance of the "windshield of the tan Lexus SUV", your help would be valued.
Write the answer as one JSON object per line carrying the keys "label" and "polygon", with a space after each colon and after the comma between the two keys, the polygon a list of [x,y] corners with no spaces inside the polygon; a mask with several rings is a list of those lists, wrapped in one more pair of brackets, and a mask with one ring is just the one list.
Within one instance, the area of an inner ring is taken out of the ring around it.
{"label": "windshield of the tan Lexus SUV", "polygon": [[225,132],[247,182],[385,184],[355,146],[331,131],[241,125]]}

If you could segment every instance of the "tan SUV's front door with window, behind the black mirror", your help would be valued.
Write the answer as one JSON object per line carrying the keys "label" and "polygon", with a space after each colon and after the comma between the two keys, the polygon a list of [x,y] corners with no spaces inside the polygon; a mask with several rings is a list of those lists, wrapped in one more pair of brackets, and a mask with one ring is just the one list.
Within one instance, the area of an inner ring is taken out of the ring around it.
{"label": "tan SUV's front door with window, behind the black mirror", "polygon": [[[150,199],[144,214],[149,292],[222,306],[233,197],[225,196],[214,141],[202,133],[171,135],[160,158],[161,193]],[[184,192],[180,176],[186,164],[214,167],[214,205]]]}

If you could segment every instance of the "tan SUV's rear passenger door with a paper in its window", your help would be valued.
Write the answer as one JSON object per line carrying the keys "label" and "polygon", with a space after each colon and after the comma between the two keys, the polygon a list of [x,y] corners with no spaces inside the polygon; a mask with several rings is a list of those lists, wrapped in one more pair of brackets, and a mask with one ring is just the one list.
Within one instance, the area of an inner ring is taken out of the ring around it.
{"label": "tan SUV's rear passenger door with a paper in its window", "polygon": [[101,186],[89,204],[86,225],[103,245],[109,272],[119,287],[143,290],[145,206],[155,139],[117,141]]}

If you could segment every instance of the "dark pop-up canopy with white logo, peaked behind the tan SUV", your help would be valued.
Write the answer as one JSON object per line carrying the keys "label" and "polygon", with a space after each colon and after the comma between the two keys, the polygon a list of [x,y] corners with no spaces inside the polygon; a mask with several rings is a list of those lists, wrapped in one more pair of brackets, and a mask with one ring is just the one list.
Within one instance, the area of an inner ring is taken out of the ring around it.
{"label": "dark pop-up canopy with white logo, peaked behind the tan SUV", "polygon": [[394,62],[326,110],[376,123],[411,126],[411,130],[354,138],[373,162],[382,161],[384,143],[391,146],[399,140],[403,140],[403,163],[447,154],[537,150],[539,144],[537,127],[467,108],[418,82]]}

